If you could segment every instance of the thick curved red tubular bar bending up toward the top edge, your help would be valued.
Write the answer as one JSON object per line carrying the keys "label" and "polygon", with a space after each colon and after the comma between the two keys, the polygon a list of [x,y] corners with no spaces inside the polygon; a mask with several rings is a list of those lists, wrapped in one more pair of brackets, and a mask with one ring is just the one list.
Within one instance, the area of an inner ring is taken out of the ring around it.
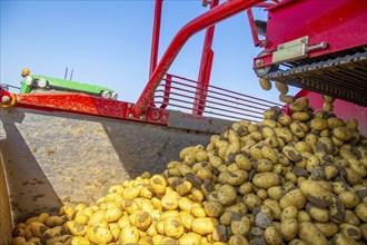
{"label": "thick curved red tubular bar bending up toward the top edge", "polygon": [[192,35],[264,1],[265,0],[228,0],[188,22],[176,35],[157,68],[150,76],[149,81],[142,90],[138,101],[132,107],[133,116],[139,117],[148,109],[148,102],[153,96],[160,80],[163,78],[180,49]]}

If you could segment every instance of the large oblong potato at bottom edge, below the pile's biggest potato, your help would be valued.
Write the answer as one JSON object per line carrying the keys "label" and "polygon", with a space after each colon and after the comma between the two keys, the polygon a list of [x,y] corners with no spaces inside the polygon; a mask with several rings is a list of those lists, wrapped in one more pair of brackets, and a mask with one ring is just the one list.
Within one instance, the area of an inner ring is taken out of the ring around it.
{"label": "large oblong potato at bottom edge, below the pile's biggest potato", "polygon": [[317,228],[315,224],[309,222],[299,224],[298,236],[307,244],[328,244],[325,235]]}

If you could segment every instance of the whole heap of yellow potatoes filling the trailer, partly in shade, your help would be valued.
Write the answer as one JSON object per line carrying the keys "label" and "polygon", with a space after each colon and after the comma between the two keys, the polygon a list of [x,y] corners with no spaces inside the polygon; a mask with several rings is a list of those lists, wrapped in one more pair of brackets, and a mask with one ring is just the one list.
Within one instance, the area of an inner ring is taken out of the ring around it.
{"label": "whole heap of yellow potatoes filling the trailer, partly in shade", "polygon": [[20,223],[13,244],[363,244],[367,140],[355,119],[265,110],[187,147],[161,175],[111,186],[96,205]]}

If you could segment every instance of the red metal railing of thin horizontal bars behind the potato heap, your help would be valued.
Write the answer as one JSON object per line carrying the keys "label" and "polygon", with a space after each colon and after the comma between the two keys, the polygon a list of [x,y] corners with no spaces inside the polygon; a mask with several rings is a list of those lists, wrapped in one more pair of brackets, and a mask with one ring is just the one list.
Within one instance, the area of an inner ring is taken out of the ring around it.
{"label": "red metal railing of thin horizontal bars behind the potato heap", "polygon": [[284,106],[175,75],[166,75],[156,89],[153,100],[156,106],[162,109],[251,121],[261,120],[265,109]]}

